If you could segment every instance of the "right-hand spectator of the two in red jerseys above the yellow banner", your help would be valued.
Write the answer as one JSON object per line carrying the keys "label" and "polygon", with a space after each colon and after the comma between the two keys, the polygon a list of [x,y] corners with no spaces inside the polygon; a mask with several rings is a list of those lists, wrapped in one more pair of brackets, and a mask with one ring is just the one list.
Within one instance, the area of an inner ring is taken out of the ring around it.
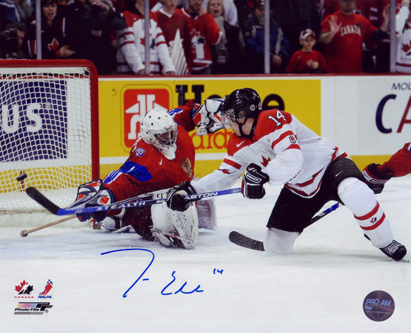
{"label": "right-hand spectator of the two in red jerseys above the yellow banner", "polygon": [[223,36],[216,21],[202,4],[203,0],[188,0],[187,7],[182,9],[190,32],[191,51],[188,65],[191,73],[197,75],[211,74],[210,45],[218,44]]}

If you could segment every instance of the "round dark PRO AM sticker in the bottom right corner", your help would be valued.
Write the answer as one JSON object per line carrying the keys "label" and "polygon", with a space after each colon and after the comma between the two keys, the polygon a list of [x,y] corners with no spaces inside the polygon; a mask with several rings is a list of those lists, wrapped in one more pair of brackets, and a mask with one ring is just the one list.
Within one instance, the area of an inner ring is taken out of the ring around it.
{"label": "round dark PRO AM sticker in the bottom right corner", "polygon": [[371,291],[362,303],[362,310],[372,321],[384,321],[394,313],[394,299],[385,291]]}

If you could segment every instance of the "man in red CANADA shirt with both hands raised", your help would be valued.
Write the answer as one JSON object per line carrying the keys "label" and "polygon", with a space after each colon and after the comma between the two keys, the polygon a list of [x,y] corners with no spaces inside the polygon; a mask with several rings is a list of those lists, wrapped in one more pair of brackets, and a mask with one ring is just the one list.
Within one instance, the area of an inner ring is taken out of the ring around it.
{"label": "man in red CANADA shirt with both hands raised", "polygon": [[340,0],[340,10],[321,23],[319,41],[325,44],[329,73],[362,73],[362,42],[382,39],[388,32],[388,7],[384,9],[384,23],[379,29],[364,16],[355,14],[355,9],[355,0]]}

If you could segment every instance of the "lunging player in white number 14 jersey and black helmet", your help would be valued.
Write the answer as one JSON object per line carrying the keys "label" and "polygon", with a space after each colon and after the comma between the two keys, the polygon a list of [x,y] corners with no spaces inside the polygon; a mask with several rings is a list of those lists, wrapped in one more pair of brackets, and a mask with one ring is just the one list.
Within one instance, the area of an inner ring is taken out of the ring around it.
{"label": "lunging player in white number 14 jersey and black helmet", "polygon": [[184,195],[231,187],[242,173],[242,194],[265,195],[264,184],[284,184],[269,221],[264,249],[289,254],[295,239],[330,200],[351,210],[364,236],[386,256],[401,260],[406,247],[394,240],[390,223],[373,190],[345,151],[321,138],[295,116],[277,109],[262,111],[256,90],[234,90],[225,99],[221,119],[234,134],[220,169],[169,191],[167,205],[185,210]]}

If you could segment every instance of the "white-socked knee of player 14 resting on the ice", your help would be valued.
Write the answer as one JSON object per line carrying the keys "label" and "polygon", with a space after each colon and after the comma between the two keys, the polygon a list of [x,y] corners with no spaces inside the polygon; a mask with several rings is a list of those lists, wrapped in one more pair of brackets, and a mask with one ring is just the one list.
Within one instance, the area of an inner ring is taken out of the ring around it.
{"label": "white-socked knee of player 14 resting on the ice", "polygon": [[299,232],[287,232],[271,227],[266,231],[264,237],[264,250],[271,255],[290,254],[298,235]]}

